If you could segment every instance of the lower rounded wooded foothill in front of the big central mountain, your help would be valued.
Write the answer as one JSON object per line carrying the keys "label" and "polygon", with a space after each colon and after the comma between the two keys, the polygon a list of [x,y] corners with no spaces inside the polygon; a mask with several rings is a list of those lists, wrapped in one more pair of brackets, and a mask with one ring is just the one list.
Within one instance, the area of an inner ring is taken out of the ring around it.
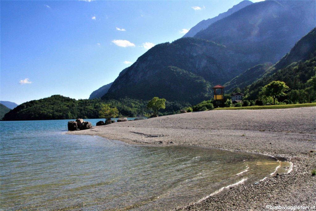
{"label": "lower rounded wooded foothill in front of the big central mountain", "polygon": [[124,96],[143,100],[158,96],[173,101],[197,103],[210,98],[211,91],[211,84],[201,76],[174,66],[168,66],[162,71],[157,71],[150,79],[117,91],[109,91],[103,98],[116,99],[124,93]]}

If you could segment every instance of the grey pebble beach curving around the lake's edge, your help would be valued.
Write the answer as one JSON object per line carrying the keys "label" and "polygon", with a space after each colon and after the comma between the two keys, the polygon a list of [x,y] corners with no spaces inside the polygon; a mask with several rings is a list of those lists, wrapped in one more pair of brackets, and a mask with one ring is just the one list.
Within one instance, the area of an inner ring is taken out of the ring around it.
{"label": "grey pebble beach curving around the lake's edge", "polygon": [[[94,126],[68,134],[98,135],[136,145],[188,145],[286,158],[289,174],[239,184],[174,210],[269,210],[312,206],[316,198],[316,107],[217,110]],[[231,121],[230,121],[231,120]],[[171,143],[172,142],[172,143]],[[313,151],[313,152],[310,152]]]}

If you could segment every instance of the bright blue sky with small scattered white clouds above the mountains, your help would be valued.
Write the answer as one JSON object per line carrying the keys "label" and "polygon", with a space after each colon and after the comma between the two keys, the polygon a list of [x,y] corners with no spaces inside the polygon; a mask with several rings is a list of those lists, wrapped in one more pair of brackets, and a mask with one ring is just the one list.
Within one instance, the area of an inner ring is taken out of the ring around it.
{"label": "bright blue sky with small scattered white clouds above the mountains", "polygon": [[239,2],[1,1],[0,99],[87,99],[154,45]]}

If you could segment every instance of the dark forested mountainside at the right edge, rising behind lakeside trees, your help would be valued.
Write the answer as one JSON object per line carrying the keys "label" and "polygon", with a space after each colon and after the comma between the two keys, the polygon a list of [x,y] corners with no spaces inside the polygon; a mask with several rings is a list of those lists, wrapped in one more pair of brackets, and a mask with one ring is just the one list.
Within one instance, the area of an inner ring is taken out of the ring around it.
{"label": "dark forested mountainside at the right edge, rising behind lakeside trees", "polygon": [[[245,88],[249,99],[255,99],[263,86],[271,81],[284,81],[290,89],[304,89],[315,74],[316,28],[302,37],[276,64],[267,69],[261,78]],[[242,76],[241,76],[242,77]]]}

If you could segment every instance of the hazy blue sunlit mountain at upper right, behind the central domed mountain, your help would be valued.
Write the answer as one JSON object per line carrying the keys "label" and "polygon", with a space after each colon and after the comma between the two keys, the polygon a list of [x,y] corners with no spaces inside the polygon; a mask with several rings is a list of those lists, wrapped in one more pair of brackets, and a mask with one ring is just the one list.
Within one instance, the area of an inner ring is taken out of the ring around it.
{"label": "hazy blue sunlit mountain at upper right, behind the central domed mountain", "polygon": [[253,3],[211,24],[194,37],[252,54],[259,63],[275,63],[315,27],[316,1]]}

